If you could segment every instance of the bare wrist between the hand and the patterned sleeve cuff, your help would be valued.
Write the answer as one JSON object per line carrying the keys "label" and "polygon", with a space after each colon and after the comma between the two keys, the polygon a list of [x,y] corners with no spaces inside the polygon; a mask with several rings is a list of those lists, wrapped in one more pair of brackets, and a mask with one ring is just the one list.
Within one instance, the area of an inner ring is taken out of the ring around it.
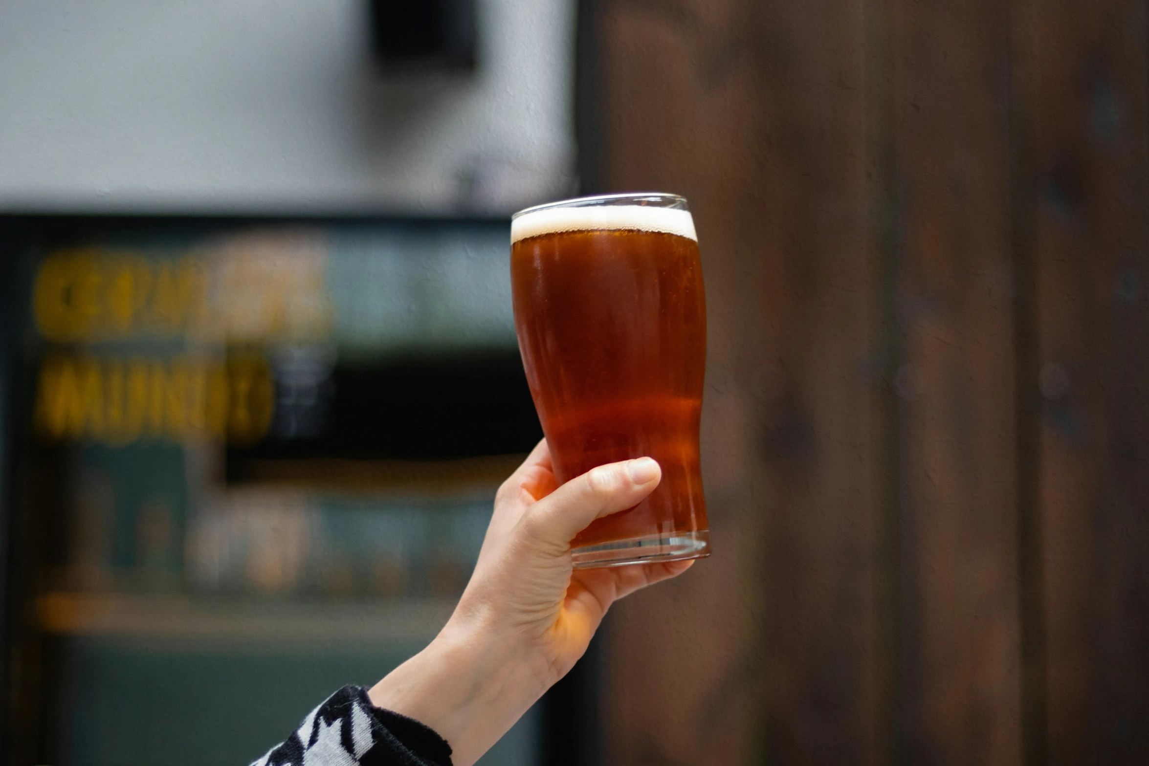
{"label": "bare wrist between the hand and the patterned sleeve cuff", "polygon": [[454,620],[423,651],[379,681],[378,707],[425,724],[450,744],[456,766],[478,759],[550,686],[540,652]]}

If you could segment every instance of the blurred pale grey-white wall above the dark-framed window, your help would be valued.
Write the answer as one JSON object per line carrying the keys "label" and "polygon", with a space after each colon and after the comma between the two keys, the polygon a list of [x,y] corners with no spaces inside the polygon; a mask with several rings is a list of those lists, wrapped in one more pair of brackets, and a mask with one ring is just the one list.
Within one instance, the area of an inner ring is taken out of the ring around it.
{"label": "blurred pale grey-white wall above the dark-framed window", "polygon": [[363,0],[0,2],[0,211],[506,212],[573,185],[573,0],[395,82]]}

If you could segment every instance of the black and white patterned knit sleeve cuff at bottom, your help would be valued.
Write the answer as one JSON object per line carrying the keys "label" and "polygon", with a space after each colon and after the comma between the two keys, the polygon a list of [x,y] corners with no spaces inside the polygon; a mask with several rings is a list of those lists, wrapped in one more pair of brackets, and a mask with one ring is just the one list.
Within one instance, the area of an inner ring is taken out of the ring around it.
{"label": "black and white patterned knit sleeve cuff at bottom", "polygon": [[344,687],[252,766],[452,766],[450,745],[418,721]]}

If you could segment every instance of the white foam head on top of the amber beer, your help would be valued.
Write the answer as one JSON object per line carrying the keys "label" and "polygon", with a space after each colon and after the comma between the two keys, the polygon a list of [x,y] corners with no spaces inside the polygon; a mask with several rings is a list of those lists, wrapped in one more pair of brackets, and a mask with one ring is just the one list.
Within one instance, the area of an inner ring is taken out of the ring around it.
{"label": "white foam head on top of the amber beer", "polygon": [[510,222],[511,245],[520,239],[568,231],[650,231],[699,241],[689,210],[645,204],[587,204],[529,210]]}

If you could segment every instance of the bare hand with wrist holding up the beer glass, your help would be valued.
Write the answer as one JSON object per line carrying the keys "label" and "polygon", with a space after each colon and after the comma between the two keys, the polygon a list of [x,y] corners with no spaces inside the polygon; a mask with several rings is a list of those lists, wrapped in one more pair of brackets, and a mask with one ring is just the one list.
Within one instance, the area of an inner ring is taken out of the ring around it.
{"label": "bare hand with wrist holding up the beer glass", "polygon": [[450,620],[370,690],[372,704],[433,728],[456,766],[478,760],[570,671],[615,601],[694,563],[571,566],[574,535],[638,504],[661,477],[658,464],[641,457],[560,487],[540,442],[499,488],[478,564]]}

